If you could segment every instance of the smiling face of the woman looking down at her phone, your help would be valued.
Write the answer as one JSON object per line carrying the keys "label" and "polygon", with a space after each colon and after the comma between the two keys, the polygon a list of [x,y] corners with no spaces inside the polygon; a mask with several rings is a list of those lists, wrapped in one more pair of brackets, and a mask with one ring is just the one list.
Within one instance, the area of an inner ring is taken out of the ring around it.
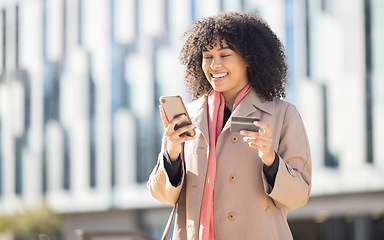
{"label": "smiling face of the woman looking down at her phone", "polygon": [[225,40],[216,41],[212,49],[203,51],[202,68],[212,88],[234,102],[237,94],[248,84],[247,63],[229,48]]}

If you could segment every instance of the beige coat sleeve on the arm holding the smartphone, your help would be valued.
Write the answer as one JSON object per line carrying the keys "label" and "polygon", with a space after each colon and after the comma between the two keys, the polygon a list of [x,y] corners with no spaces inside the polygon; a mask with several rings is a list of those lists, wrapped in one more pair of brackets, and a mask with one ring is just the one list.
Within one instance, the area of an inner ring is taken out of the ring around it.
{"label": "beige coat sleeve on the arm holding the smartphone", "polygon": [[[182,186],[184,184],[184,160],[182,157],[182,177],[181,177],[181,183],[174,187],[172,186],[171,181],[169,180],[169,176],[167,173],[167,170],[164,167],[164,151],[166,151],[166,140],[163,137],[162,141],[162,150],[158,156],[157,164],[155,168],[153,169],[151,175],[149,176],[149,180],[147,182],[147,186],[149,188],[149,191],[151,195],[159,200],[160,202],[168,205],[174,205],[180,195]],[[183,153],[181,154],[181,156]]]}

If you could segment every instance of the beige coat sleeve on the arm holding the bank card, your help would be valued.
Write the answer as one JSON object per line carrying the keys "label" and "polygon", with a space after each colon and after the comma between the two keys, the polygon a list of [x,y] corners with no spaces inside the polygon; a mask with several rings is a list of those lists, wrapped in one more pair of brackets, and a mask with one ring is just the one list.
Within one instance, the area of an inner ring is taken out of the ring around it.
{"label": "beige coat sleeve on the arm holding the bank card", "polygon": [[273,188],[262,173],[265,193],[277,207],[299,208],[311,192],[312,163],[304,124],[293,105],[287,107],[277,153],[279,168]]}

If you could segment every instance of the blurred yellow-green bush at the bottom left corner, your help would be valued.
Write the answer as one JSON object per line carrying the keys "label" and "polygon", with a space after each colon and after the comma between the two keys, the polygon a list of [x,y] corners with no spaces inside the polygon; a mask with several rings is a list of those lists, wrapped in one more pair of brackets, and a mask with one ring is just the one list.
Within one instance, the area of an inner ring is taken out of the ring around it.
{"label": "blurred yellow-green bush at the bottom left corner", "polygon": [[60,215],[46,205],[0,216],[0,232],[12,232],[17,239],[38,239],[41,233],[47,234],[52,240],[58,239],[61,227]]}

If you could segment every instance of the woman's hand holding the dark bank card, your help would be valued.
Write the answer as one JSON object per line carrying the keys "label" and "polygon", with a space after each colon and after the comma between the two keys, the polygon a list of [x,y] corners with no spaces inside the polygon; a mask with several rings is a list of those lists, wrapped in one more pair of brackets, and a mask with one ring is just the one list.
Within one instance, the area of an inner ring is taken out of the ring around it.
{"label": "woman's hand holding the dark bank card", "polygon": [[240,134],[243,135],[244,142],[248,142],[248,145],[259,151],[259,157],[263,163],[267,166],[271,166],[275,160],[275,152],[272,149],[272,132],[269,126],[266,123],[255,121],[253,122],[255,126],[260,127],[260,131],[240,131]]}

